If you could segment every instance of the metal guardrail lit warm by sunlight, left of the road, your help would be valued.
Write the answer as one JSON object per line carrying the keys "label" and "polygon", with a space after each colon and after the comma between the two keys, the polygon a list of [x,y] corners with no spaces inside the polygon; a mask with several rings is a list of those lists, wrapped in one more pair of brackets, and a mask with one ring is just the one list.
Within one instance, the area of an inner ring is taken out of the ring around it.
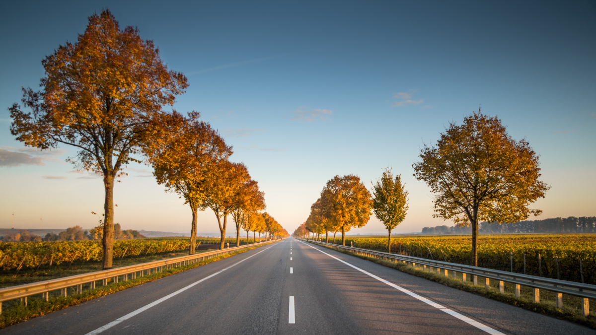
{"label": "metal guardrail lit warm by sunlight, left of the road", "polygon": [[61,290],[61,295],[66,297],[67,289],[69,287],[76,286],[77,293],[82,293],[83,284],[89,284],[89,289],[95,289],[96,281],[101,280],[103,286],[106,286],[108,284],[109,278],[112,278],[113,283],[118,283],[119,277],[122,277],[122,281],[127,281],[129,279],[128,275],[131,275],[131,279],[135,279],[137,273],[139,274],[139,277],[143,277],[145,275],[145,271],[147,275],[150,275],[152,273],[163,271],[164,267],[165,269],[172,269],[178,266],[198,263],[201,262],[201,260],[215,258],[221,255],[237,252],[238,250],[252,248],[254,246],[262,246],[264,244],[273,243],[276,241],[279,240],[263,241],[259,243],[247,244],[246,246],[216,250],[213,252],[196,253],[194,255],[123,266],[122,268],[89,272],[87,274],[39,281],[37,283],[5,287],[4,289],[0,289],[0,314],[2,314],[2,302],[8,300],[24,299],[24,304],[27,306],[27,297],[33,296],[35,294],[42,294],[43,299],[48,301],[50,291]]}

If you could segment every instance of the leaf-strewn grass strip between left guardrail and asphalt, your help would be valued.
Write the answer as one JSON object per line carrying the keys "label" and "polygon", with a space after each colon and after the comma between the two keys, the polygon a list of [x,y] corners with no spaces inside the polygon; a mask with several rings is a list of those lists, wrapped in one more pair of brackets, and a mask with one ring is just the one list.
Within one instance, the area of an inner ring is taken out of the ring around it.
{"label": "leaf-strewn grass strip between left guardrail and asphalt", "polygon": [[[48,302],[42,299],[41,294],[30,296],[27,300],[27,306],[24,306],[24,304],[21,303],[19,300],[13,300],[7,306],[7,308],[4,308],[4,306],[2,308],[2,314],[0,314],[0,329],[8,327],[9,325],[17,324],[19,322],[30,320],[32,318],[41,317],[42,315],[58,311],[63,308],[75,306],[82,302],[97,299],[98,297],[107,296],[107,294],[116,293],[117,291],[126,290],[130,287],[138,286],[144,283],[149,283],[150,281],[158,280],[160,278],[177,274],[188,269],[193,269],[201,265],[216,262],[217,260],[238,255],[239,253],[247,252],[258,247],[262,246],[255,246],[249,249],[238,250],[237,252],[228,255],[222,255],[216,258],[204,260],[203,262],[179,266],[173,269],[167,269],[162,272],[156,272],[151,275],[145,275],[145,277],[139,277],[120,283],[110,283],[107,286],[97,287],[93,290],[84,290],[80,294],[72,294],[66,297],[60,295],[50,296]],[[4,302],[4,304],[6,303],[7,302]]]}

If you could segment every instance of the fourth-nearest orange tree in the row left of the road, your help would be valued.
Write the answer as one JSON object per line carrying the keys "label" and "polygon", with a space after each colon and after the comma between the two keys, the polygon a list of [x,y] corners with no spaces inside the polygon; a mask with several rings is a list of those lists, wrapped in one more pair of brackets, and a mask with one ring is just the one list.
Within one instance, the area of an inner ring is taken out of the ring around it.
{"label": "fourth-nearest orange tree in the row left of the road", "polygon": [[240,246],[240,228],[246,230],[246,243],[249,239],[249,215],[265,209],[265,193],[259,191],[256,181],[249,179],[240,187],[235,196],[235,208],[232,210],[232,219],[236,225],[236,246]]}

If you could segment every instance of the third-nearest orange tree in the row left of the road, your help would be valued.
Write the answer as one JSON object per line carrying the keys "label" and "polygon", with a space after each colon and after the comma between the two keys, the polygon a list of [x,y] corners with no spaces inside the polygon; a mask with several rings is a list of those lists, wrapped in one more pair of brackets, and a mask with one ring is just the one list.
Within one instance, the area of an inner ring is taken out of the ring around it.
{"label": "third-nearest orange tree in the row left of the road", "polygon": [[219,249],[224,249],[228,215],[238,207],[237,197],[244,183],[250,181],[249,171],[243,163],[222,160],[209,170],[200,187],[206,190],[204,204],[213,210],[218,219],[221,240]]}

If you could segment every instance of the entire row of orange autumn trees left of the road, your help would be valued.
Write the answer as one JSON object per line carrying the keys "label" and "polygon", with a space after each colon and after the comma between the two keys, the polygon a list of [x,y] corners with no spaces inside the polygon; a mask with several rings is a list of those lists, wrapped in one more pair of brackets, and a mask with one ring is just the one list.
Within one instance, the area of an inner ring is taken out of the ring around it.
{"label": "entire row of orange autumn trees left of the road", "polygon": [[257,227],[270,236],[283,232],[277,225],[243,226],[244,216],[254,223],[252,216],[263,215],[264,194],[246,166],[229,162],[232,147],[198,120],[199,113],[184,116],[164,110],[184,94],[187,77],[168,70],[159,49],[153,41],[141,39],[138,29],[121,30],[104,10],[89,17],[74,44],[59,46],[42,66],[41,90],[23,88],[22,104],[31,111],[21,110],[19,104],[9,108],[11,134],[42,150],[72,145],[78,151],[69,162],[103,176],[104,269],[112,267],[113,259],[114,182],[120,182],[117,178],[125,175],[128,163],[140,163],[142,158],[154,167],[157,182],[191,207],[190,253],[194,253],[197,210],[207,207],[218,219],[221,248],[230,214],[237,234],[241,226],[253,231]]}

